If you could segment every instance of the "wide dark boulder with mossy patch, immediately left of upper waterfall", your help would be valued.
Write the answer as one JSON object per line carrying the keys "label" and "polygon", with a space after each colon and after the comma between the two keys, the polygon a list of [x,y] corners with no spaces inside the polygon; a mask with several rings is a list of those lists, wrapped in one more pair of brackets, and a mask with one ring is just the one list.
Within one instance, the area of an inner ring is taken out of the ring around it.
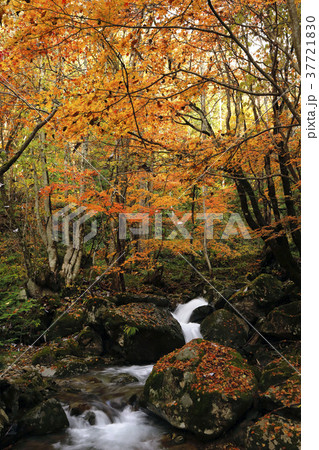
{"label": "wide dark boulder with mossy patch, immediately left of upper waterfall", "polygon": [[99,305],[89,319],[103,330],[107,351],[131,363],[154,362],[185,342],[168,309],[153,304]]}

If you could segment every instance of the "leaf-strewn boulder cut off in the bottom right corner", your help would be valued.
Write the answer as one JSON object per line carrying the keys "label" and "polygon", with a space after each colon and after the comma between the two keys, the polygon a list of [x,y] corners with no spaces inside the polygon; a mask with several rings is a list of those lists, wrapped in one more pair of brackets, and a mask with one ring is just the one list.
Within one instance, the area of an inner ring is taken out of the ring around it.
{"label": "leaf-strewn boulder cut off in the bottom right corner", "polygon": [[298,450],[300,435],[299,421],[268,414],[248,429],[246,449]]}

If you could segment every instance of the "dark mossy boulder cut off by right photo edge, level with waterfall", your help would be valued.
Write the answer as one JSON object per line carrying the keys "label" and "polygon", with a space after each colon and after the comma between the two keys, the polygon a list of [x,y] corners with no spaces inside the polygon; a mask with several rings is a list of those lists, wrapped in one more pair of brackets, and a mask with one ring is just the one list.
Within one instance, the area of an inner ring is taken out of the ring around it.
{"label": "dark mossy boulder cut off by right photo edge, level with waterfall", "polygon": [[263,321],[260,331],[277,339],[300,339],[301,302],[292,302],[273,309]]}

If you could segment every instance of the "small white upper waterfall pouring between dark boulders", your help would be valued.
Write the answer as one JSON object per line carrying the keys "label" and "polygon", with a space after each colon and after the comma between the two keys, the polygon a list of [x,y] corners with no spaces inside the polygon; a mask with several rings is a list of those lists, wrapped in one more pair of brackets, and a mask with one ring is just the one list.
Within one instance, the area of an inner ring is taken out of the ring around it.
{"label": "small white upper waterfall pouring between dark boulders", "polygon": [[191,341],[192,339],[203,337],[200,332],[200,324],[190,322],[189,319],[194,309],[198,308],[199,306],[205,306],[207,304],[207,301],[203,297],[194,298],[188,303],[178,305],[175,311],[172,313],[173,317],[180,323],[182,327],[186,343]]}

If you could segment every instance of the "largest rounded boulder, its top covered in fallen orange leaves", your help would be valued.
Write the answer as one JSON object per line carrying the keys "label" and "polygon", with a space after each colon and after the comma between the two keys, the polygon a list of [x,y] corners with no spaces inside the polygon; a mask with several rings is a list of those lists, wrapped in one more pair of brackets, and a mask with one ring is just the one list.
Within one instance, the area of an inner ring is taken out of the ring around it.
{"label": "largest rounded boulder, its top covered in fallen orange leaves", "polygon": [[194,339],[160,359],[144,387],[155,414],[202,438],[216,438],[250,408],[257,382],[235,350]]}

